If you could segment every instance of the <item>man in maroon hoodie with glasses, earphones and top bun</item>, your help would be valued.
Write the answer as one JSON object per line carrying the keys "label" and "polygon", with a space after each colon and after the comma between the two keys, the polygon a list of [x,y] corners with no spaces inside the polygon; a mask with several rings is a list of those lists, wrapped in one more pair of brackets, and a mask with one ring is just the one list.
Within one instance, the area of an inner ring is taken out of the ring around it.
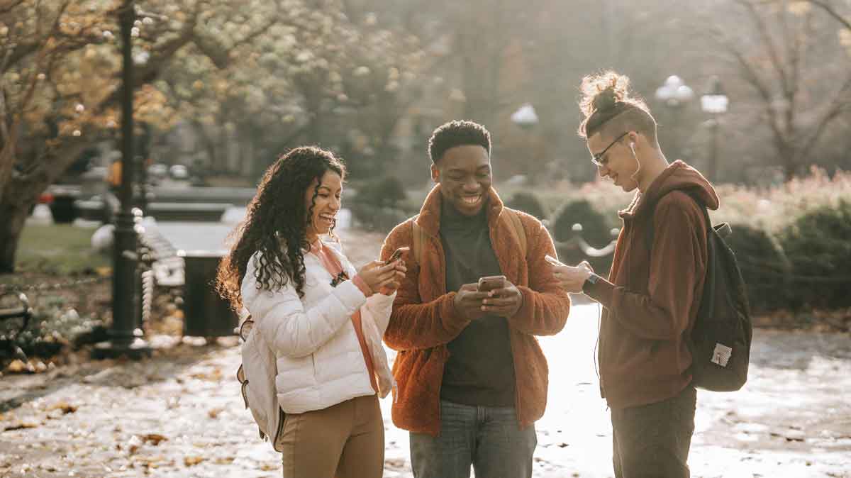
{"label": "man in maroon hoodie with glasses, earphones and top bun", "polygon": [[611,409],[617,478],[688,477],[696,392],[687,339],[700,306],[707,260],[702,208],[717,209],[712,185],[685,162],[669,163],[656,122],[629,78],[585,77],[580,136],[601,177],[635,191],[619,213],[608,280],[591,268],[554,266],[567,292],[603,304],[600,390]]}

